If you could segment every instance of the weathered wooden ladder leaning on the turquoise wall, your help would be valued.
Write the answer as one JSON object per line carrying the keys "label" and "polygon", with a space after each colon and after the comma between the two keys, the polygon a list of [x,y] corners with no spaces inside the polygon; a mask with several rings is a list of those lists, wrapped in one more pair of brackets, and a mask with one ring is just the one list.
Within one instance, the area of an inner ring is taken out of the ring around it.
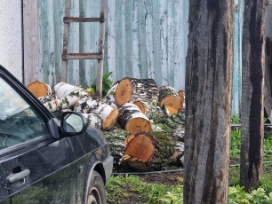
{"label": "weathered wooden ladder leaning on the turquoise wall", "polygon": [[[103,59],[104,59],[104,42],[105,42],[105,20],[107,0],[100,0],[100,18],[80,18],[70,17],[71,0],[66,0],[65,16],[63,18],[63,51],[62,51],[62,72],[61,82],[67,82],[68,59],[98,59],[98,70],[96,80],[96,92],[102,96],[102,78],[103,78]],[[69,24],[79,22],[100,22],[100,36],[98,52],[93,53],[68,53],[68,35]]]}

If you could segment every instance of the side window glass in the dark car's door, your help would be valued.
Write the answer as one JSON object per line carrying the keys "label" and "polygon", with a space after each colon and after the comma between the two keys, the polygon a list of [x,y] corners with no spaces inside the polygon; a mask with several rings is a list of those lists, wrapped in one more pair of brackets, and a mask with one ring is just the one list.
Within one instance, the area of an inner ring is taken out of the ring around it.
{"label": "side window glass in the dark car's door", "polygon": [[47,135],[43,117],[0,78],[0,149]]}

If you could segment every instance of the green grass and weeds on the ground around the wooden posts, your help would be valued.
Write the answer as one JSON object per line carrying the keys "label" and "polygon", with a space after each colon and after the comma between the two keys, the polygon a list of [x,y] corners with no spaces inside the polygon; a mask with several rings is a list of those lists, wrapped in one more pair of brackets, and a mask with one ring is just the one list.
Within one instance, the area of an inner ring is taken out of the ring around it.
{"label": "green grass and weeds on the ground around the wooden posts", "polygon": [[[231,132],[231,160],[240,158],[241,131]],[[264,138],[264,161],[272,161],[272,135]],[[272,163],[264,163],[262,184],[252,192],[245,192],[239,185],[239,166],[229,169],[229,203],[272,203]],[[106,186],[108,203],[182,203],[183,186],[147,184],[141,177],[110,177]],[[134,198],[132,200],[132,198]],[[136,198],[136,199],[135,199]]]}

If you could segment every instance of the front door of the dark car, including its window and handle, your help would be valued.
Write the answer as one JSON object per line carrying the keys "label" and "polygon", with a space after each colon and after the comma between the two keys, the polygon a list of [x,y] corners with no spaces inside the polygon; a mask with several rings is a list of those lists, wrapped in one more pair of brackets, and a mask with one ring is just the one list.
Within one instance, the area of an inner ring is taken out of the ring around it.
{"label": "front door of the dark car, including its window and handle", "polygon": [[75,203],[76,164],[60,124],[0,66],[1,199]]}

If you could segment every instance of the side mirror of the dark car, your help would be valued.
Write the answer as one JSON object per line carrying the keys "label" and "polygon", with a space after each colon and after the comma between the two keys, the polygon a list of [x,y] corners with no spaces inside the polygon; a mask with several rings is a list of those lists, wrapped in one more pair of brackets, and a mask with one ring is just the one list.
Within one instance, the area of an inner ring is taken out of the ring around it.
{"label": "side mirror of the dark car", "polygon": [[61,115],[60,129],[64,136],[72,136],[84,132],[88,127],[87,119],[83,114],[64,112]]}

